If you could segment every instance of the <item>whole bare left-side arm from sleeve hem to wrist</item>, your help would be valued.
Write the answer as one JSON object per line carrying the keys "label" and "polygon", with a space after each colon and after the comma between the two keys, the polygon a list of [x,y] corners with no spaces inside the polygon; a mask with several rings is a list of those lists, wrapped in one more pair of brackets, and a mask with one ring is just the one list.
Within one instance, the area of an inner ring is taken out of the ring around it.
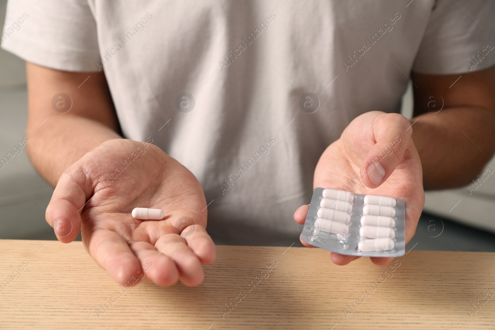
{"label": "whole bare left-side arm from sleeve hem to wrist", "polygon": [[[120,138],[120,128],[103,73],[60,71],[29,62],[26,67],[26,147],[38,173],[55,186],[87,152]],[[60,98],[61,93],[65,95]]]}

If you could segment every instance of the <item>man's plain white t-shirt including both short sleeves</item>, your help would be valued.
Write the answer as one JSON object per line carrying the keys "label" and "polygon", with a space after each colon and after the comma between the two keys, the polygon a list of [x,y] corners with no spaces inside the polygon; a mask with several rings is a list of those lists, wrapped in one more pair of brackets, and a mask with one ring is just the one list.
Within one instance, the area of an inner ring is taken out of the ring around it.
{"label": "man's plain white t-shirt including both short sleeves", "polygon": [[481,0],[10,0],[2,47],[104,70],[124,137],[196,175],[217,243],[290,245],[339,132],[397,112],[411,70],[494,65],[494,17]]}

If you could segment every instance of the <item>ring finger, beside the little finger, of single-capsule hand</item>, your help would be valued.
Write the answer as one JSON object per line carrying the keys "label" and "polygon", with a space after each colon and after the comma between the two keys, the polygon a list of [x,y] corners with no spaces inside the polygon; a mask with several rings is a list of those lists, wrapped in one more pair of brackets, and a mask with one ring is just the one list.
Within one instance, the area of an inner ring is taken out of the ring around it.
{"label": "ring finger, beside the little finger, of single-capsule hand", "polygon": [[179,270],[179,280],[187,286],[199,285],[204,274],[201,263],[187,246],[186,239],[177,234],[161,236],[155,243],[158,251],[170,257]]}

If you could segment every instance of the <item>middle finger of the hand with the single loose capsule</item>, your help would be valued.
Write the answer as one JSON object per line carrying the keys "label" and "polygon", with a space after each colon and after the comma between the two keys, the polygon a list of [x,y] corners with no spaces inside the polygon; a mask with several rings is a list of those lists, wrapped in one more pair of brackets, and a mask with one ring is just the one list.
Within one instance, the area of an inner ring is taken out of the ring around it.
{"label": "middle finger of the hand with the single loose capsule", "polygon": [[153,283],[168,286],[179,280],[179,270],[173,260],[159,253],[153,245],[148,242],[135,242],[130,248],[138,257],[145,276]]}

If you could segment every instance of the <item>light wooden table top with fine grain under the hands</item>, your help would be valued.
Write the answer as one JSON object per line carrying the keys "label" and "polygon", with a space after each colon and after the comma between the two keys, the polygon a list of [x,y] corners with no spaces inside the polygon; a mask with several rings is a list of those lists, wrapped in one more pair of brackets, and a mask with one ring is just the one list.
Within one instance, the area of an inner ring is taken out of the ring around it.
{"label": "light wooden table top with fine grain under the hands", "polygon": [[198,287],[125,288],[80,242],[0,251],[0,329],[495,329],[495,253],[341,267],[322,249],[218,246]]}

